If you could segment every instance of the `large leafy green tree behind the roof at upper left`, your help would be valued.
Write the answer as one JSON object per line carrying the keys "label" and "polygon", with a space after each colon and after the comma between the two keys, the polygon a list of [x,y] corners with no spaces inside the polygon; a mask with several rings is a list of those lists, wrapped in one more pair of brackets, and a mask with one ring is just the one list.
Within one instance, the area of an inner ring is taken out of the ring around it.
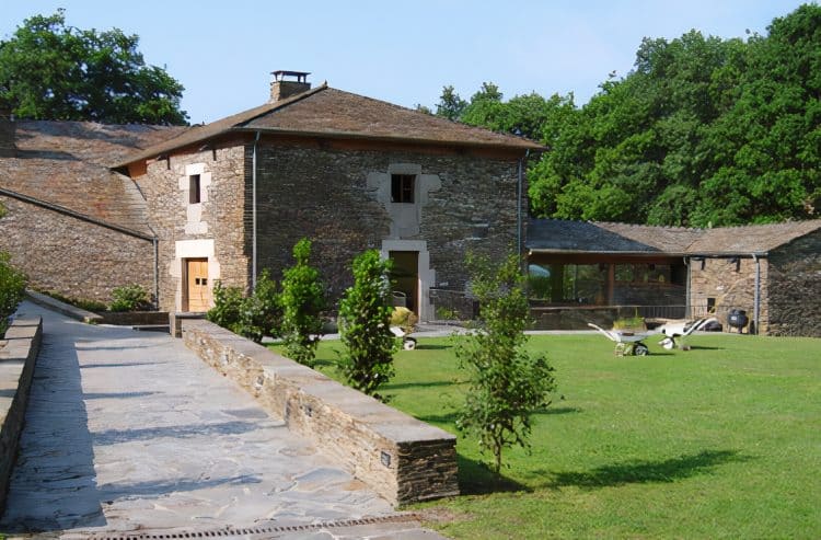
{"label": "large leafy green tree behind the roof at upper left", "polygon": [[184,88],[146,65],[136,35],[67,26],[65,13],[26,19],[0,42],[0,105],[21,118],[187,124]]}

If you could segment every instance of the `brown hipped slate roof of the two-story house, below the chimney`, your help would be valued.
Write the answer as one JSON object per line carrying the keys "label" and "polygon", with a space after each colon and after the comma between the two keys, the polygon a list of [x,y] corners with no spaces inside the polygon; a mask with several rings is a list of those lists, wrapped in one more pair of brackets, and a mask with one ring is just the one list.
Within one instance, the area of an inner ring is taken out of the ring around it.
{"label": "brown hipped slate roof of the two-story house, below the chimney", "polygon": [[401,141],[455,147],[544,150],[528,139],[466,126],[322,84],[307,92],[244,111],[129,156],[125,166],[232,131]]}

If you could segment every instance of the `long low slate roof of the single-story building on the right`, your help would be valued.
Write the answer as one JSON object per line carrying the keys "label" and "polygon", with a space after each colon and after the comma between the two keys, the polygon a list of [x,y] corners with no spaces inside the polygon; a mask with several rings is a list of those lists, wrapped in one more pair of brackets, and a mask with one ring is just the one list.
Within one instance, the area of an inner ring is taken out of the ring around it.
{"label": "long low slate roof of the single-story building on the right", "polygon": [[820,219],[714,229],[532,219],[525,246],[541,253],[748,255],[767,253],[819,229]]}

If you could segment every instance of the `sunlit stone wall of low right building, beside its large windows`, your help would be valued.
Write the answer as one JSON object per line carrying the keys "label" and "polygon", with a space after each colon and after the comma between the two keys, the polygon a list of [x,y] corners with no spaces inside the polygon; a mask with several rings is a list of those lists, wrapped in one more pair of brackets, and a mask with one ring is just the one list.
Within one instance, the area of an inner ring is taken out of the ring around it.
{"label": "sunlit stone wall of low right building, beside its large windows", "polygon": [[[755,261],[741,258],[737,263],[731,258],[705,258],[704,268],[699,261],[691,261],[690,298],[695,312],[703,311],[708,299],[715,299],[715,317],[730,330],[727,317],[731,309],[747,311],[750,322],[753,320],[755,305]],[[767,310],[768,264],[766,258],[759,258],[761,265],[760,320],[758,332],[768,333],[770,313]],[[749,326],[748,326],[749,328]],[[747,330],[744,330],[747,331]]]}

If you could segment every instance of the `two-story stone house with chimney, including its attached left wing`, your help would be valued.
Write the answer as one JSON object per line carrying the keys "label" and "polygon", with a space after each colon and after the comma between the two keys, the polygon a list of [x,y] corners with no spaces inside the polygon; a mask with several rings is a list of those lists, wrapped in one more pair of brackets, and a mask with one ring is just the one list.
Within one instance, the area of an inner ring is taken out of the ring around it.
{"label": "two-story stone house with chimney, including its attached left wing", "polygon": [[307,74],[275,72],[267,103],[189,128],[5,122],[0,250],[41,288],[105,300],[140,283],[162,310],[205,311],[217,280],[278,278],[308,237],[332,298],[378,249],[426,320],[464,290],[469,250],[521,249],[540,145]]}

